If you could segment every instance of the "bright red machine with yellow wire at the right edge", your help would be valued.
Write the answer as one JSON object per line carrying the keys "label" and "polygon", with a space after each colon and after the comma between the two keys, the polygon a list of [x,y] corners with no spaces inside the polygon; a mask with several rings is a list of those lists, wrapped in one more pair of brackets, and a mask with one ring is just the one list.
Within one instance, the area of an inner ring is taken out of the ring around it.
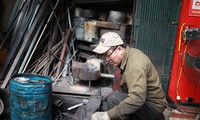
{"label": "bright red machine with yellow wire at the right edge", "polygon": [[168,95],[200,103],[200,0],[182,0]]}

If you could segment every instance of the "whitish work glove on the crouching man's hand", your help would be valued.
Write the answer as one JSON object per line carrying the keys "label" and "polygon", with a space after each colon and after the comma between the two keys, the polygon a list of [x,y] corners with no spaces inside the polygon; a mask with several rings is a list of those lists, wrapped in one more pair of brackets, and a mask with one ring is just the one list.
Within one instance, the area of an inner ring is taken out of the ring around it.
{"label": "whitish work glove on the crouching man's hand", "polygon": [[110,120],[107,112],[95,112],[90,120]]}

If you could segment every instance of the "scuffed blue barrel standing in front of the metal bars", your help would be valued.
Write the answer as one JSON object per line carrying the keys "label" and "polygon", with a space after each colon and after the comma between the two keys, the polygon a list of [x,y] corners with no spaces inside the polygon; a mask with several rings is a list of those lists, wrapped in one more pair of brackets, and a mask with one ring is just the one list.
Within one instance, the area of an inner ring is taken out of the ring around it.
{"label": "scuffed blue barrel standing in front of the metal bars", "polygon": [[9,83],[11,120],[51,120],[51,79],[33,74],[14,75]]}

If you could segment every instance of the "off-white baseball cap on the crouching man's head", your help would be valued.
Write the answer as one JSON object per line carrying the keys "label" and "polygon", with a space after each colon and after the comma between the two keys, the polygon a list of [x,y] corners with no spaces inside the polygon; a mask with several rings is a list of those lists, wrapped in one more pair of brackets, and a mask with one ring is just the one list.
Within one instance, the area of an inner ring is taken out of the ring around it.
{"label": "off-white baseball cap on the crouching man's head", "polygon": [[107,32],[101,36],[98,46],[93,51],[102,54],[108,51],[110,47],[122,44],[124,44],[124,42],[117,33]]}

